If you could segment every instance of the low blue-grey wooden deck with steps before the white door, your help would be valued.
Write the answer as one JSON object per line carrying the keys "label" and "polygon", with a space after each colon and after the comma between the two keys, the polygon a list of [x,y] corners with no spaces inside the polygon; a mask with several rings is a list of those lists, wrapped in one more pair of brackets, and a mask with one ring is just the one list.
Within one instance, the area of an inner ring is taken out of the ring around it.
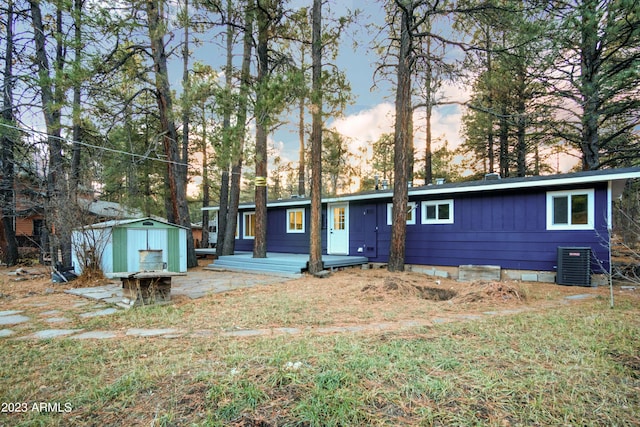
{"label": "low blue-grey wooden deck with steps before the white door", "polygon": [[[331,270],[339,267],[367,264],[369,260],[363,256],[322,255],[322,262],[325,269]],[[266,258],[253,258],[253,254],[250,252],[238,252],[234,255],[218,257],[207,268],[299,275],[308,270],[308,264],[308,254],[269,252]]]}

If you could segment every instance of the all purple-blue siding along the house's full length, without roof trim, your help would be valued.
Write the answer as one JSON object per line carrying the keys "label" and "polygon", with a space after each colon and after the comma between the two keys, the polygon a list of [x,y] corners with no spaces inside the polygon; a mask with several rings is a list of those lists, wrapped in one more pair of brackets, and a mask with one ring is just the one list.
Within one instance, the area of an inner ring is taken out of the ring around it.
{"label": "all purple-blue siding along the house's full length, without roof trim", "polygon": [[[421,224],[421,202],[426,199],[411,198],[410,201],[416,202],[416,224],[407,225],[405,262],[436,266],[488,264],[505,269],[553,271],[557,263],[558,246],[588,246],[594,258],[601,260],[604,268],[608,268],[608,253],[602,244],[608,236],[607,184],[583,188],[595,189],[595,230],[547,231],[544,188],[459,193],[443,197],[454,200],[453,224]],[[554,191],[576,189],[553,188]],[[387,204],[390,202],[389,198],[349,203],[350,255],[364,255],[372,262],[388,261],[391,226],[387,225]],[[310,206],[304,205],[304,209],[304,233],[286,232],[287,208],[269,209],[269,252],[308,253]],[[323,205],[324,254],[326,239],[327,212],[326,205]],[[238,239],[236,249],[253,250],[253,240]],[[592,269],[601,271],[595,260]]]}

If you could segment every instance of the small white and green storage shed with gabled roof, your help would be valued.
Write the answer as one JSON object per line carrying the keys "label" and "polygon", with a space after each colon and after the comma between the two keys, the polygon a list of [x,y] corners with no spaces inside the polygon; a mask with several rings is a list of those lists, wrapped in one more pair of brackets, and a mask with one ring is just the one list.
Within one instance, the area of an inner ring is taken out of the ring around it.
{"label": "small white and green storage shed with gabled roof", "polygon": [[185,227],[153,218],[106,221],[73,231],[71,256],[77,273],[82,273],[87,257],[100,256],[102,271],[140,271],[140,251],[162,251],[167,271],[187,271]]}

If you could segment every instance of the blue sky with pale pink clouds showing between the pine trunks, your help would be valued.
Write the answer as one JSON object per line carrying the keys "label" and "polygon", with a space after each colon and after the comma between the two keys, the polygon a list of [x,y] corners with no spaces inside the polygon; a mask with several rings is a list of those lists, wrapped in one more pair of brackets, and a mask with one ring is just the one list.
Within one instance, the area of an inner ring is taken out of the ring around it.
{"label": "blue sky with pale pink clouds showing between the pine trunks", "polygon": [[[348,141],[350,152],[359,153],[363,147],[368,147],[368,154],[371,156],[371,146],[384,133],[393,133],[394,130],[394,81],[376,78],[374,74],[376,67],[381,62],[372,47],[375,37],[374,30],[368,27],[369,24],[382,25],[384,22],[383,0],[333,0],[330,4],[323,6],[323,20],[331,12],[334,16],[345,15],[347,10],[359,9],[362,13],[356,24],[350,26],[341,38],[341,47],[336,61],[336,65],[346,73],[347,80],[352,89],[354,102],[346,107],[344,115],[339,118],[329,119],[326,123],[328,128],[337,130]],[[299,7],[311,7],[312,0],[291,0],[288,7],[297,9]],[[443,34],[451,32],[448,23],[437,26],[444,26]],[[180,36],[178,36],[180,38]],[[384,34],[378,35],[379,41],[383,41]],[[357,47],[354,47],[357,42]],[[241,59],[241,41],[236,45],[235,66],[239,67]],[[461,56],[460,52],[451,55]],[[222,65],[224,62],[224,47],[204,46],[196,48],[193,61],[209,62],[214,69],[222,75]],[[181,87],[182,64],[180,61],[174,63],[175,73],[170,75],[172,85],[178,89]],[[172,70],[170,69],[170,74]],[[377,76],[379,77],[379,76]],[[221,77],[222,79],[222,77]],[[436,96],[443,101],[453,101],[464,103],[469,100],[470,92],[467,87],[460,83],[444,82],[440,92]],[[414,102],[419,100],[414,99]],[[434,108],[432,112],[432,150],[441,148],[445,142],[450,150],[460,146],[463,142],[461,131],[461,120],[465,113],[465,107],[452,104]],[[297,108],[283,114],[281,119],[284,123],[269,135],[269,144],[273,148],[270,159],[280,158],[280,164],[291,163],[293,167],[298,165],[299,137],[298,137],[298,112]],[[308,118],[310,124],[310,118]],[[425,119],[424,112],[417,110],[414,114],[414,147],[417,159],[424,157],[425,147]],[[250,125],[253,128],[252,125]],[[308,139],[308,136],[307,136]],[[308,143],[308,140],[306,141]],[[567,157],[559,161],[560,171],[567,172],[576,164],[575,158]],[[367,172],[367,165],[364,167]],[[416,182],[416,185],[421,185]]]}

